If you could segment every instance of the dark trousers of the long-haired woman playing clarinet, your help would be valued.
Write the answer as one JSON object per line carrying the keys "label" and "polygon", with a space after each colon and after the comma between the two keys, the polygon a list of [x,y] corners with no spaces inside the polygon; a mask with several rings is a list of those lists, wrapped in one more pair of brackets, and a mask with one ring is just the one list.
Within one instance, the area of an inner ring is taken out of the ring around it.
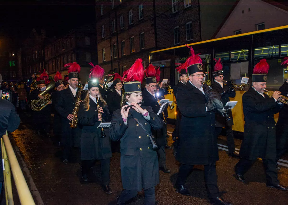
{"label": "dark trousers of the long-haired woman playing clarinet", "polygon": [[[95,160],[82,160],[82,173],[88,174],[91,167],[94,165]],[[110,181],[110,158],[100,159],[102,185],[109,185]]]}

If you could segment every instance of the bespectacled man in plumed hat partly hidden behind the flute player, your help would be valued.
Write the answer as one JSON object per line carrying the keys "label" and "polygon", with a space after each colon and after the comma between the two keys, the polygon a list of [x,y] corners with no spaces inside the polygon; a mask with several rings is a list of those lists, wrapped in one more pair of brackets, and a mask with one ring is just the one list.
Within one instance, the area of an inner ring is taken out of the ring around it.
{"label": "bespectacled man in plumed hat partly hidden behind the flute player", "polygon": [[[143,106],[150,106],[154,113],[157,113],[160,110],[160,105],[158,103],[158,96],[156,95],[157,89],[157,79],[156,79],[156,69],[150,64],[147,69],[145,69],[146,74],[146,86],[142,91],[143,97]],[[164,120],[162,113],[160,114],[160,118]],[[165,145],[166,145],[166,136],[164,135],[164,129],[152,129],[153,135],[157,138],[157,142],[159,143],[160,149],[157,151],[159,157],[159,169],[164,173],[170,173],[170,170],[166,166],[166,153],[165,153]]]}

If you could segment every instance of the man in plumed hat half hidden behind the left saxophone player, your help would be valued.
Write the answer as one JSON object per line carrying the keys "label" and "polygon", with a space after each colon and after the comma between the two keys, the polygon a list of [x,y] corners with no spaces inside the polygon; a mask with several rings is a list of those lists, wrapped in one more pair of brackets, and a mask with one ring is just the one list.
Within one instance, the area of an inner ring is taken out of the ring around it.
{"label": "man in plumed hat half hidden behind the left saxophone player", "polygon": [[55,110],[55,104],[58,99],[59,91],[66,89],[66,87],[64,85],[64,81],[62,80],[62,75],[59,73],[59,71],[57,71],[56,75],[54,76],[54,81],[55,81],[56,91],[54,91],[51,94],[52,106],[54,108],[53,134],[54,134],[54,142],[56,144],[60,144],[60,138],[62,135],[62,131],[61,131],[62,123],[61,123],[61,115]]}

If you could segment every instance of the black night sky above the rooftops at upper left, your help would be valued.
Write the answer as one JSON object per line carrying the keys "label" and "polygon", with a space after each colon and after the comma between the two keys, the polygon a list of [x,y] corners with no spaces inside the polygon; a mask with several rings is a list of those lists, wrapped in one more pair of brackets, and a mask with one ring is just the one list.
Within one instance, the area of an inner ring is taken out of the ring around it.
{"label": "black night sky above the rooftops at upper left", "polygon": [[0,38],[12,47],[19,47],[33,28],[60,37],[94,20],[95,0],[0,1]]}

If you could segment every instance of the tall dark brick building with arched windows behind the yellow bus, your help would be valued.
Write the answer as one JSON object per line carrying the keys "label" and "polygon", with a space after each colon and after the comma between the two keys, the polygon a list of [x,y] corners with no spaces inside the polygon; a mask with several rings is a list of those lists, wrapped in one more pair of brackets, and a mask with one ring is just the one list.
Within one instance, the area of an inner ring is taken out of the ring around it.
{"label": "tall dark brick building with arched windows behind the yellow bus", "polygon": [[[218,0],[220,1],[220,0]],[[98,0],[96,1],[98,63],[105,72],[123,73],[137,58],[143,59],[144,68],[149,63],[149,52],[162,48],[198,42],[202,36],[211,37],[224,19],[233,3],[225,7],[219,19],[209,32],[201,28],[200,4],[203,12],[208,12],[208,1],[202,0]],[[207,4],[205,4],[207,3]],[[215,5],[215,9],[221,5]],[[211,11],[213,12],[213,11]],[[161,77],[174,76],[174,66],[170,59],[158,61]]]}

